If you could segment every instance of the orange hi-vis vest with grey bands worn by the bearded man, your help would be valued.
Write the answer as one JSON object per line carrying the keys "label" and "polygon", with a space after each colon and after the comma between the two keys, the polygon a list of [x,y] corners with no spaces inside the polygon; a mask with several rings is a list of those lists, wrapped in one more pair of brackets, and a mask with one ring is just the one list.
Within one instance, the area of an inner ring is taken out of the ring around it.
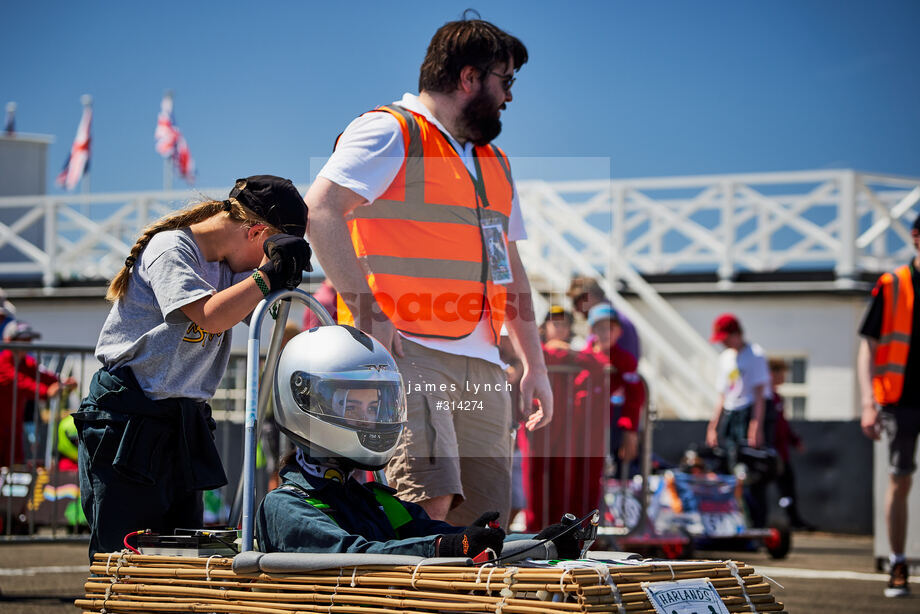
{"label": "orange hi-vis vest with grey bands worn by the bearded man", "polygon": [[[371,112],[390,113],[399,121],[406,152],[386,191],[356,207],[348,219],[377,304],[397,330],[418,337],[462,339],[486,318],[497,344],[507,294],[492,275],[497,270],[510,276],[513,187],[507,156],[493,145],[475,147],[479,172],[474,179],[446,136],[424,116],[398,105]],[[491,267],[490,257],[497,260]],[[354,323],[341,296],[338,319]]]}

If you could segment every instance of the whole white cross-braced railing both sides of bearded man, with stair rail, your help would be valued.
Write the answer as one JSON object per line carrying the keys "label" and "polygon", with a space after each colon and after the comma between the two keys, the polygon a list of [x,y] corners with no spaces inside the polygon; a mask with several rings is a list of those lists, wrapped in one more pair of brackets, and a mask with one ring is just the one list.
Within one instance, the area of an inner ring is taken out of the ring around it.
{"label": "whole white cross-braced railing both sides of bearded man, with stair rail", "polygon": [[[920,179],[828,170],[521,181],[518,191],[529,235],[519,248],[533,285],[564,292],[575,274],[597,276],[639,329],[653,401],[702,417],[715,402],[715,351],[642,275],[710,272],[730,286],[744,272],[822,269],[852,286],[859,273],[913,254]],[[0,285],[40,278],[53,295],[70,281],[102,283],[149,221],[225,192],[0,198]],[[616,294],[624,283],[642,315]]]}

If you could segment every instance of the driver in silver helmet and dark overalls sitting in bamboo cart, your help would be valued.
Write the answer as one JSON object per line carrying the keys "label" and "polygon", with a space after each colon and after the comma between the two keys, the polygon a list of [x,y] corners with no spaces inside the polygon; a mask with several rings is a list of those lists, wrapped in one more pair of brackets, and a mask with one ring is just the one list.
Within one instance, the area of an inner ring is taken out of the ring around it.
{"label": "driver in silver helmet and dark overalls sitting in bamboo cart", "polygon": [[[389,462],[406,421],[402,378],[376,339],[351,326],[302,332],[282,351],[274,385],[275,419],[296,450],[283,461],[281,486],[259,506],[261,551],[473,558],[488,548],[500,556],[505,532],[490,526],[498,512],[457,527],[387,486],[352,477]],[[553,542],[560,557],[578,556],[571,533]]]}

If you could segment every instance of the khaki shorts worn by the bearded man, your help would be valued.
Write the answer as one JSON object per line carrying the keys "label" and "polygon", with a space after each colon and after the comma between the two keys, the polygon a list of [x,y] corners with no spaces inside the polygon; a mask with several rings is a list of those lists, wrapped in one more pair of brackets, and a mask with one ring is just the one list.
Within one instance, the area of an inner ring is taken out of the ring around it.
{"label": "khaki shorts worn by the bearded man", "polygon": [[399,497],[454,495],[447,521],[511,510],[511,395],[502,369],[478,358],[402,340],[396,363],[406,385],[408,424],[386,468]]}

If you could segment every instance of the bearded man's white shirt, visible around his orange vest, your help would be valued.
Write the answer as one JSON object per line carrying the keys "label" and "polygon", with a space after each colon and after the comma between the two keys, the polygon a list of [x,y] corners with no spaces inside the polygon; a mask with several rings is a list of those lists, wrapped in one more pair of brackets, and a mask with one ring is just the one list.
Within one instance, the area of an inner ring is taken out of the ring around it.
{"label": "bearded man's white shirt, visible around his orange vest", "polygon": [[[402,100],[395,104],[424,116],[437,126],[450,139],[451,145],[459,153],[463,164],[474,177],[476,162],[473,156],[473,144],[461,146],[450,133],[435,119],[431,111],[419,101],[414,94],[404,94]],[[402,128],[399,121],[390,113],[366,113],[352,121],[336,145],[335,152],[319,172],[335,184],[348,188],[364,197],[369,204],[383,194],[402,166],[405,157]],[[521,241],[527,238],[524,219],[518,200],[517,188],[512,185],[511,215],[508,219],[508,240]],[[463,339],[427,339],[400,333],[403,337],[428,348],[481,358],[501,365],[498,346],[492,341],[492,331],[488,320],[480,320],[473,332]]]}

